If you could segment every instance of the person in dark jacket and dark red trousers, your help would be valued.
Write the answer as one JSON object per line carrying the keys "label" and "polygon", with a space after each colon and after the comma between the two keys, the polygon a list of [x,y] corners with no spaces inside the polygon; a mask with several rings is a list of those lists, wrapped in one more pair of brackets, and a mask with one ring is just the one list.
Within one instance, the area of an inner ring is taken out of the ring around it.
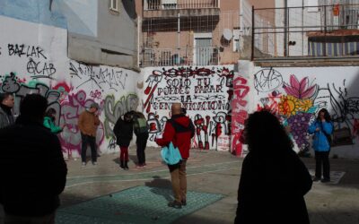
{"label": "person in dark jacket and dark red trousers", "polygon": [[129,142],[132,140],[132,136],[134,133],[134,127],[132,125],[132,114],[127,112],[122,119],[122,117],[118,117],[118,121],[116,122],[113,133],[116,136],[116,143],[119,146],[119,162],[120,168],[128,169],[128,146]]}

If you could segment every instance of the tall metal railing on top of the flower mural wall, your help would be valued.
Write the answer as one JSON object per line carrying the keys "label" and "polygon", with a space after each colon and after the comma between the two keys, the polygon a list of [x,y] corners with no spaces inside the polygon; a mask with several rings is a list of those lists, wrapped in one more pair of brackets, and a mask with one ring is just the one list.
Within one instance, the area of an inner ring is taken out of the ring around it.
{"label": "tall metal railing on top of the flower mural wall", "polygon": [[252,14],[253,59],[359,56],[359,4],[262,8]]}

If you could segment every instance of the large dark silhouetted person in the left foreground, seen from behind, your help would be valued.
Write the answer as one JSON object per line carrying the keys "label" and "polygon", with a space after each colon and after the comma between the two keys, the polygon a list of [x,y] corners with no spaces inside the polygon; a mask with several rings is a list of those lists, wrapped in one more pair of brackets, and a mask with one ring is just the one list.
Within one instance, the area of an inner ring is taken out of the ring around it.
{"label": "large dark silhouetted person in the left foreground, seen from behind", "polygon": [[66,185],[57,135],[42,125],[48,100],[27,95],[14,125],[0,130],[0,202],[4,223],[55,223]]}

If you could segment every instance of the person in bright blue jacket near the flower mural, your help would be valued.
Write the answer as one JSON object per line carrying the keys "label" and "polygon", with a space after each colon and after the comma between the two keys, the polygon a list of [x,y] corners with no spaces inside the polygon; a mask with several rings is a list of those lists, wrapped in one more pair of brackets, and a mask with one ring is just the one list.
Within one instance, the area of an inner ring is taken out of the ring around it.
{"label": "person in bright blue jacket near the flower mural", "polygon": [[[320,109],[317,119],[309,126],[309,134],[313,135],[312,147],[315,152],[315,177],[313,181],[325,183],[330,181],[330,134],[333,133],[333,124],[328,110]],[[321,179],[321,167],[323,167],[323,178]]]}

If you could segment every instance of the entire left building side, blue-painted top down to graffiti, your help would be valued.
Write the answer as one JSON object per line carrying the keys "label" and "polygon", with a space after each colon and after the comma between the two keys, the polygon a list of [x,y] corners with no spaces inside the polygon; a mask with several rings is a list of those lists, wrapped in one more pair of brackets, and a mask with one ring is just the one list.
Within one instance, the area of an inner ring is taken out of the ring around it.
{"label": "entire left building side, blue-painted top down to graffiti", "polygon": [[142,109],[135,5],[125,2],[132,1],[0,2],[0,92],[13,93],[15,116],[26,94],[47,98],[64,126],[58,138],[67,158],[79,157],[77,120],[92,102],[101,106],[99,154],[118,151],[118,117]]}

